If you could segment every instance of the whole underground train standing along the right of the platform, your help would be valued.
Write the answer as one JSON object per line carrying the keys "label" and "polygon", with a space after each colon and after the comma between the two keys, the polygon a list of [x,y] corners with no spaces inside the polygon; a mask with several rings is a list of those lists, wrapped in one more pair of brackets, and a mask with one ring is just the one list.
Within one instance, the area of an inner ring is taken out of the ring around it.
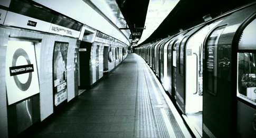
{"label": "whole underground train standing along the right of the platform", "polygon": [[255,9],[239,7],[135,49],[195,136],[256,137]]}

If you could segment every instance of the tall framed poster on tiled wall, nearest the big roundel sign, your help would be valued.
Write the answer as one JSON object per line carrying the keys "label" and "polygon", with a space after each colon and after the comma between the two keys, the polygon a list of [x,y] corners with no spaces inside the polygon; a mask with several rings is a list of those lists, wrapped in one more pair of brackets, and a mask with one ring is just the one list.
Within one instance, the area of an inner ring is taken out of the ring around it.
{"label": "tall framed poster on tiled wall, nearest the big roundel sign", "polygon": [[54,104],[67,100],[67,42],[55,42],[53,52],[53,93]]}

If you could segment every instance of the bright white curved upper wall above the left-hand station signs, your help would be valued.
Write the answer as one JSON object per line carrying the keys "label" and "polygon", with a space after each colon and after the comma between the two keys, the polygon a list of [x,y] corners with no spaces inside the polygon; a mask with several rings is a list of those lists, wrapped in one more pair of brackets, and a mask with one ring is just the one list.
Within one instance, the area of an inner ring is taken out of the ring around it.
{"label": "bright white curved upper wall above the left-hand station signs", "polygon": [[[99,14],[98,9],[88,0],[33,0],[39,4],[53,9],[56,12],[60,12],[67,15],[83,24],[93,27],[105,34],[108,34],[118,40],[130,45],[127,39],[130,33],[123,35],[118,27],[113,25],[115,21],[111,22],[105,19],[103,15]],[[65,8],[62,8],[65,7]],[[75,7],[75,8],[74,8]],[[75,10],[74,10],[75,9]],[[108,13],[105,13],[108,14]],[[111,19],[110,19],[111,20]],[[102,25],[104,24],[104,25]]]}

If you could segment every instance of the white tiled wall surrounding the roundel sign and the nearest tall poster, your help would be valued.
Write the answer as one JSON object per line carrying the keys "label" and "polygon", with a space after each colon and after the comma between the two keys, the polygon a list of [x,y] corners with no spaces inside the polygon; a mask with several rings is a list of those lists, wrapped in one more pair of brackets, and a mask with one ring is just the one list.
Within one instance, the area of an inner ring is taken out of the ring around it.
{"label": "white tiled wall surrounding the roundel sign and the nearest tall poster", "polygon": [[53,48],[54,42],[68,42],[68,101],[74,98],[74,52],[77,39],[46,33],[22,31],[21,29],[0,26],[0,137],[8,137],[7,102],[5,85],[5,58],[9,36],[40,38],[41,43],[35,45],[37,69],[40,84],[41,121],[53,113]]}

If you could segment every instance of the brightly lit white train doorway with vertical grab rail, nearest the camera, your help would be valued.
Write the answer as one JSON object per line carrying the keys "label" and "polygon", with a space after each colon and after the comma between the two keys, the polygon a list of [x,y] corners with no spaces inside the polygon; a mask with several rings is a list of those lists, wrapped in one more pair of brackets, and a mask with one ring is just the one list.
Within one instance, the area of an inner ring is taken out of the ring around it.
{"label": "brightly lit white train doorway with vertical grab rail, nearest the camera", "polygon": [[189,38],[185,48],[185,115],[191,127],[203,136],[203,42],[222,20],[205,26]]}

